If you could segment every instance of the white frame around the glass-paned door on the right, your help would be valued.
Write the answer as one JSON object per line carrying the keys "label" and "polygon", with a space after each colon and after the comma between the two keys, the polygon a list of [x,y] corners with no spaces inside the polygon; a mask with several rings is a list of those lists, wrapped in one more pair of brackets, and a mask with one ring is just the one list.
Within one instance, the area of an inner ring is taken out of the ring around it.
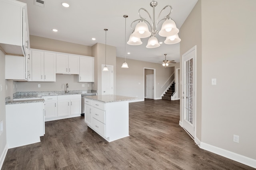
{"label": "white frame around the glass-paned door on the right", "polygon": [[[183,61],[183,57],[186,56],[188,53],[195,51],[195,56],[193,57],[193,115],[194,115],[194,137],[192,137],[190,135],[190,133],[188,133],[188,131],[186,129],[184,129],[183,127],[183,121],[184,121],[184,95],[182,94],[184,92],[184,61]],[[182,98],[182,109],[181,111],[181,122],[180,122],[180,126],[188,133],[188,135],[190,135],[190,137],[195,141],[196,139],[196,45],[194,47],[192,47],[190,50],[188,50],[186,53],[184,53],[182,55],[182,69],[180,70],[180,75],[182,76],[181,80],[182,80],[182,89],[180,92],[180,96]]]}

